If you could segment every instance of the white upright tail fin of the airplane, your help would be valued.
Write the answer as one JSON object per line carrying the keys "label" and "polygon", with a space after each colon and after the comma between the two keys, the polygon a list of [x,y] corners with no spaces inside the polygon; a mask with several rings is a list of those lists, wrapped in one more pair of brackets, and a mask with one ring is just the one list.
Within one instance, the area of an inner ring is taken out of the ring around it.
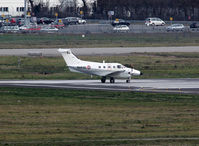
{"label": "white upright tail fin of the airplane", "polygon": [[80,64],[81,60],[73,55],[70,49],[59,49],[58,51],[62,54],[67,66]]}

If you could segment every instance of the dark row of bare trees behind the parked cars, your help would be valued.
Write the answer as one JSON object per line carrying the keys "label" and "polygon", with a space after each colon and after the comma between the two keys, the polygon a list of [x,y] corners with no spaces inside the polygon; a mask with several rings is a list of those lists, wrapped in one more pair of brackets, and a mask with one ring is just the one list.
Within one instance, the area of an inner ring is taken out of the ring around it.
{"label": "dark row of bare trees behind the parked cars", "polygon": [[[78,6],[77,0],[60,0],[60,5],[48,8],[42,3],[35,4],[29,0],[31,11],[36,16],[51,16],[54,12],[60,17],[80,16],[84,18],[143,20],[147,17],[159,17],[164,20],[199,20],[199,0],[95,0],[90,3],[82,0]],[[109,11],[114,15],[109,15]],[[113,13],[112,13],[113,14]]]}

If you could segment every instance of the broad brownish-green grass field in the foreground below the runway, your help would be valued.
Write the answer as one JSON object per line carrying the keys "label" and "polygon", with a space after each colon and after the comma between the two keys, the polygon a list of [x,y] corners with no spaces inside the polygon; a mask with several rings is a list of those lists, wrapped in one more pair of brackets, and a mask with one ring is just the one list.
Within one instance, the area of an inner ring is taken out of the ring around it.
{"label": "broad brownish-green grass field in the foreground below the runway", "polygon": [[198,110],[198,95],[1,87],[0,141],[19,145],[196,144],[199,141],[112,139],[198,137]]}

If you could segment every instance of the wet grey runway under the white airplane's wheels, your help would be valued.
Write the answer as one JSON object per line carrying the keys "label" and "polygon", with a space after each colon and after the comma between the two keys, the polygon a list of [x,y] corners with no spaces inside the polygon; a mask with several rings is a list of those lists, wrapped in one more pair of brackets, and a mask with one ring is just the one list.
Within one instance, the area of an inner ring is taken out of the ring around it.
{"label": "wet grey runway under the white airplane's wheels", "polygon": [[131,83],[116,80],[114,84],[108,80],[106,83],[100,80],[0,80],[0,86],[199,94],[199,78],[132,79]]}

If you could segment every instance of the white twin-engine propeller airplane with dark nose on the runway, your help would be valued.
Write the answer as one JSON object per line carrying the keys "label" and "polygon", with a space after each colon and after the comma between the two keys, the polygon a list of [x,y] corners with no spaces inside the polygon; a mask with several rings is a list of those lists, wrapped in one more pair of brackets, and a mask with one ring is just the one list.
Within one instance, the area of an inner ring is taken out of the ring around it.
{"label": "white twin-engine propeller airplane with dark nose on the runway", "polygon": [[142,75],[140,71],[119,63],[83,61],[74,56],[70,49],[59,49],[58,51],[62,54],[70,71],[100,76],[102,83],[106,82],[107,77],[110,78],[110,83],[115,83],[115,78],[125,78],[129,83],[132,75]]}

